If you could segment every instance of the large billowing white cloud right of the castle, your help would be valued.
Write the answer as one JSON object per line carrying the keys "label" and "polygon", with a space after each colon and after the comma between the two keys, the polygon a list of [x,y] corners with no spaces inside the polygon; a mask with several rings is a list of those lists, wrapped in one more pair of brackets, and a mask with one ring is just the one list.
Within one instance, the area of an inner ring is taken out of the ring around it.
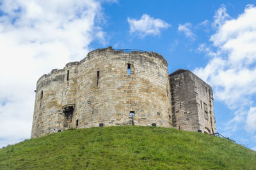
{"label": "large billowing white cloud right of the castle", "polygon": [[225,101],[234,110],[234,118],[227,124],[236,127],[243,124],[256,132],[256,8],[246,6],[244,13],[230,18],[224,6],[216,12],[211,36],[211,46],[202,44],[199,51],[211,56],[207,66],[195,69],[195,73],[215,89],[215,97]]}

